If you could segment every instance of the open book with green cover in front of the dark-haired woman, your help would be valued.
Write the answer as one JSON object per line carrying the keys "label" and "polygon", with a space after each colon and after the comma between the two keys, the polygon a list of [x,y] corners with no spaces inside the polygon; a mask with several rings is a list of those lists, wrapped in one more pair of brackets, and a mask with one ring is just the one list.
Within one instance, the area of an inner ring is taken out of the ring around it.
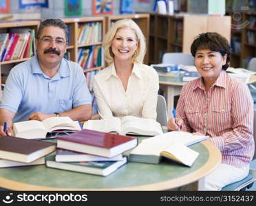
{"label": "open book with green cover in front of the dark-haired woman", "polygon": [[129,153],[129,161],[141,163],[160,163],[162,157],[191,166],[198,157],[198,152],[187,146],[209,139],[208,136],[193,135],[182,131],[173,131],[151,137]]}

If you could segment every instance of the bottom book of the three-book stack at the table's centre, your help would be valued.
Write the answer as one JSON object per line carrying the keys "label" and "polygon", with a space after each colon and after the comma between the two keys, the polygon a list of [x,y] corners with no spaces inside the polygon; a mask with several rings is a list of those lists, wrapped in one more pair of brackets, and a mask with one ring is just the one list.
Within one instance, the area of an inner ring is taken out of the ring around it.
{"label": "bottom book of the three-book stack at the table's centre", "polygon": [[122,165],[127,163],[127,157],[123,157],[122,161],[81,161],[81,162],[57,162],[54,161],[54,155],[45,157],[46,166],[61,170],[70,170],[74,172],[83,172],[87,174],[96,174],[107,176],[116,171]]}

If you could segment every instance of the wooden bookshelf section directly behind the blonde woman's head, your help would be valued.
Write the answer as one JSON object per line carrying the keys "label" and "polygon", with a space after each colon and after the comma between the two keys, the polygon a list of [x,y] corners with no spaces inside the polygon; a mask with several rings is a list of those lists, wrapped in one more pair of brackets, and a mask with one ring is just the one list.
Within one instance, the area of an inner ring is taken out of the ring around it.
{"label": "wooden bookshelf section directly behind the blonde woman's head", "polygon": [[126,15],[113,15],[113,16],[106,16],[106,32],[111,27],[111,24],[120,20],[120,19],[132,19],[134,20],[146,39],[147,45],[147,52],[145,54],[144,63],[148,64],[149,62],[149,14],[126,14]]}

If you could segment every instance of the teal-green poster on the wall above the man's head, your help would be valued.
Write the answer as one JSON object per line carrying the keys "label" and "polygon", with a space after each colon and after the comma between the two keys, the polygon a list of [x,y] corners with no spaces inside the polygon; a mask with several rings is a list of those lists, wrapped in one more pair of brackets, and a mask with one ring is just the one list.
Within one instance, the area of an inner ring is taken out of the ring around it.
{"label": "teal-green poster on the wall above the man's head", "polygon": [[82,0],[65,0],[65,15],[78,16],[82,14]]}

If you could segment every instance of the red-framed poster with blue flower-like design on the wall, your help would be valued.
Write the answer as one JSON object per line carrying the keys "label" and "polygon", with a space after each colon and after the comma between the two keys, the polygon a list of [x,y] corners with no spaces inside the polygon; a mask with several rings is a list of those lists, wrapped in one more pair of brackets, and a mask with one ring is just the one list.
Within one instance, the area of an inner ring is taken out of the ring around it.
{"label": "red-framed poster with blue flower-like design on the wall", "polygon": [[113,14],[112,0],[92,0],[92,14]]}

